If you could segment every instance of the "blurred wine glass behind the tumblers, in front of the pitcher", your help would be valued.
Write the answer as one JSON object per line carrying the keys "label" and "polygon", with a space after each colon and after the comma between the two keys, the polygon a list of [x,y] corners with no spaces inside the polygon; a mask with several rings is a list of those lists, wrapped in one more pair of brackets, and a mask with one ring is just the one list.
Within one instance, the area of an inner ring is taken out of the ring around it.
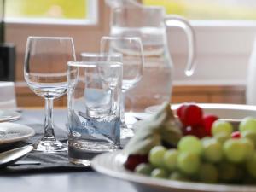
{"label": "blurred wine glass behind the tumblers, in front of the pitcher", "polygon": [[121,105],[121,138],[134,135],[131,128],[125,124],[125,92],[134,87],[143,76],[143,44],[138,37],[102,37],[102,53],[119,53],[123,55],[123,81]]}

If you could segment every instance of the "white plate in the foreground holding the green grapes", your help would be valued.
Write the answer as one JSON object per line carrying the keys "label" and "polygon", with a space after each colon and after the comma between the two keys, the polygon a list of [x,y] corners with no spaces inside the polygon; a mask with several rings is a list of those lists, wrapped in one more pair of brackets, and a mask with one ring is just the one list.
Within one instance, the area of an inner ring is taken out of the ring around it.
{"label": "white plate in the foreground holding the green grapes", "polygon": [[122,151],[100,154],[92,161],[91,166],[110,177],[131,182],[139,192],[255,192],[256,187],[241,185],[206,184],[171,181],[137,175],[125,170],[125,154]]}

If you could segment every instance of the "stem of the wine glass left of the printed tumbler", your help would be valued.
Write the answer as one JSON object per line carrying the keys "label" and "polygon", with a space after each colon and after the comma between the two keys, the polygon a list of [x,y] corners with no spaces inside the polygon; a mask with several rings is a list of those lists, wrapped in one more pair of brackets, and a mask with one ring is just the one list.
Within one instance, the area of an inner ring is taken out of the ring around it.
{"label": "stem of the wine glass left of the printed tumbler", "polygon": [[45,119],[44,119],[44,141],[55,141],[55,131],[53,123],[53,99],[45,99]]}

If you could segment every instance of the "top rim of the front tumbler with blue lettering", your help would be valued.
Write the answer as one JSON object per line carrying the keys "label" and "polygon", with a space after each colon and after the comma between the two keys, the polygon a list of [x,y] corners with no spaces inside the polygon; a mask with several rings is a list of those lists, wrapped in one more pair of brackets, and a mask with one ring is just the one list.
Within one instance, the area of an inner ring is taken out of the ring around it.
{"label": "top rim of the front tumbler with blue lettering", "polygon": [[68,61],[68,67],[98,67],[108,65],[110,67],[123,67],[123,63],[119,61]]}

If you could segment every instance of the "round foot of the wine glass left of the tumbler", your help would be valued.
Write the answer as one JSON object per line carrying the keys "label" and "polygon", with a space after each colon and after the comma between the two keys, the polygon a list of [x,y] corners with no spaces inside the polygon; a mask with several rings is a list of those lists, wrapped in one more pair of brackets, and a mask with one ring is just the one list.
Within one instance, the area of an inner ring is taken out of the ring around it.
{"label": "round foot of the wine glass left of the tumbler", "polygon": [[45,153],[67,151],[67,145],[60,141],[40,141],[39,143],[34,144],[34,151]]}

